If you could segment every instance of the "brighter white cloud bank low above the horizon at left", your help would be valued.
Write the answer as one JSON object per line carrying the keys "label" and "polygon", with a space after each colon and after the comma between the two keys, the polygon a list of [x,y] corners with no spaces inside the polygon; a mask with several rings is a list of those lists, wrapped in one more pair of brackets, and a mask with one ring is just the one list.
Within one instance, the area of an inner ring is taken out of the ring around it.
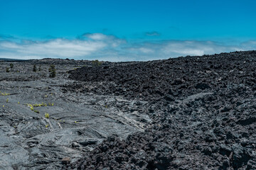
{"label": "brighter white cloud bank low above the horizon at left", "polygon": [[24,56],[36,56],[36,58],[83,57],[106,46],[107,44],[105,42],[65,39],[29,43],[0,42],[0,57],[9,57],[3,56],[1,50],[5,51],[5,55],[12,55],[13,53],[16,53],[18,58],[22,58]]}

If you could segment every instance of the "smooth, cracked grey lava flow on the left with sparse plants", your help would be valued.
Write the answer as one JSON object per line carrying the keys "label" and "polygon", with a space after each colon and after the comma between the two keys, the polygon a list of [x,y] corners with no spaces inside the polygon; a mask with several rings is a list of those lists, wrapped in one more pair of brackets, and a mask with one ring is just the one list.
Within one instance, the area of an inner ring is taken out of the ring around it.
{"label": "smooth, cracked grey lava flow on the left with sparse plants", "polygon": [[[10,63],[14,68],[6,72]],[[32,72],[35,63],[41,71]],[[55,78],[48,77],[50,64],[57,69]],[[75,82],[68,79],[67,71],[85,64],[67,60],[0,62],[0,169],[61,169],[63,158],[75,162],[109,136],[125,139],[144,130],[151,121],[148,115],[127,114],[107,105],[136,108],[144,105],[142,101],[65,91],[64,85]],[[47,106],[39,106],[42,103]],[[33,111],[30,105],[34,105]]]}

